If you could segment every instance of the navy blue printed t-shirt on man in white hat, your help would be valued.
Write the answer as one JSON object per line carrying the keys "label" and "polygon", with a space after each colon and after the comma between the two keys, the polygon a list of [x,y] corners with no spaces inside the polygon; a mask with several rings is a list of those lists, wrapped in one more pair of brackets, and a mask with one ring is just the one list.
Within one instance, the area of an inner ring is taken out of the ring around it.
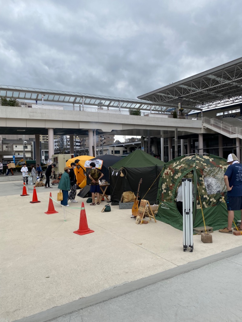
{"label": "navy blue printed t-shirt on man in white hat", "polygon": [[227,192],[227,196],[242,196],[242,165],[240,163],[231,164],[224,175],[228,176],[229,186],[233,186],[232,190]]}

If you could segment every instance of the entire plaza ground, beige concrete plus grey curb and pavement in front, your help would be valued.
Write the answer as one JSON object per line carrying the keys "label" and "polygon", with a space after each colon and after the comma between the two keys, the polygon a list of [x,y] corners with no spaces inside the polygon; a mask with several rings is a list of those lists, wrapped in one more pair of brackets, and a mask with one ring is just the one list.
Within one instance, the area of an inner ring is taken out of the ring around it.
{"label": "entire plaza ground, beige concrete plus grey curb and pavement in front", "polygon": [[[136,225],[130,209],[101,213],[106,202],[79,197],[47,215],[57,185],[36,188],[36,204],[33,186],[23,197],[22,187],[20,176],[0,177],[1,322],[194,321],[196,312],[223,321],[213,305],[224,321],[240,320],[242,236],[216,231],[204,244],[194,235],[194,251],[183,252],[182,232],[168,224]],[[82,201],[94,233],[79,236]]]}

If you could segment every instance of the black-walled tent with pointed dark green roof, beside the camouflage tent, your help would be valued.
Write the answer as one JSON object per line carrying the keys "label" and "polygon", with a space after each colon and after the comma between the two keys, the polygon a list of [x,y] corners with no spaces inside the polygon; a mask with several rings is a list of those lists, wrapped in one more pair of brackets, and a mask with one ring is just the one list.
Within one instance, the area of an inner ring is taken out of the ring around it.
{"label": "black-walled tent with pointed dark green roof, beside the camouflage tent", "polygon": [[[159,174],[164,164],[154,156],[136,150],[110,166],[111,201],[119,202],[124,191],[132,191],[136,194],[139,181],[142,179],[140,197],[148,200],[150,204],[156,203]],[[121,171],[124,176],[120,176]]]}

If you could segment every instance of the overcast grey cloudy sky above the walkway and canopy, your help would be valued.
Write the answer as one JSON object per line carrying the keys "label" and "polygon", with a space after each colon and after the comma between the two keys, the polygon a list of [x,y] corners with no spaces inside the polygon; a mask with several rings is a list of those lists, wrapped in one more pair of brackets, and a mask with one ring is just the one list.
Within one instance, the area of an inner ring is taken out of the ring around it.
{"label": "overcast grey cloudy sky above the walkway and canopy", "polygon": [[240,0],[0,0],[0,83],[135,98],[241,56]]}

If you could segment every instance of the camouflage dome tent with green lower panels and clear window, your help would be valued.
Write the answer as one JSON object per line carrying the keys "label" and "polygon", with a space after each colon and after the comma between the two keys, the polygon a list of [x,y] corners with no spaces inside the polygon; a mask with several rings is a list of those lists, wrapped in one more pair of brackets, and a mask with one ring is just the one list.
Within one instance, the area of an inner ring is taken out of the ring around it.
{"label": "camouflage dome tent with green lower panels and clear window", "polygon": [[[226,160],[213,155],[180,156],[167,162],[160,176],[157,199],[161,204],[156,219],[179,230],[183,229],[183,218],[176,207],[176,189],[182,178],[190,173],[195,188],[193,227],[204,226],[199,194],[206,226],[213,227],[214,230],[227,227],[227,206],[222,198],[227,198],[224,183],[226,169]],[[239,218],[240,211],[235,211],[235,223]]]}

